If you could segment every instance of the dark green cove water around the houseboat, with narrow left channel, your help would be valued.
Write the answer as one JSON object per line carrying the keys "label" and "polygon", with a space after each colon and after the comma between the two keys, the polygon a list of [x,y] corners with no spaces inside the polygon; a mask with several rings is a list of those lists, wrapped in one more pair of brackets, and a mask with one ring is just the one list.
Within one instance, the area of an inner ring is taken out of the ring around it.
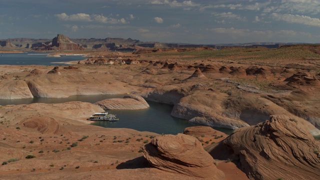
{"label": "dark green cove water around the houseboat, with narrow left channel", "polygon": [[[26,99],[0,99],[0,105],[17,105],[30,103],[63,103],[68,101],[82,101],[94,103],[106,98],[122,98],[123,94],[107,95],[73,95],[67,98],[43,98],[33,97]],[[189,126],[200,125],[189,122],[185,119],[176,118],[170,115],[173,105],[148,101],[150,105],[146,109],[138,110],[106,110],[109,113],[116,114],[118,121],[96,121],[92,125],[113,128],[131,128],[139,131],[150,131],[159,134],[177,134],[182,133],[183,129]],[[230,134],[232,129],[217,128],[216,130]]]}

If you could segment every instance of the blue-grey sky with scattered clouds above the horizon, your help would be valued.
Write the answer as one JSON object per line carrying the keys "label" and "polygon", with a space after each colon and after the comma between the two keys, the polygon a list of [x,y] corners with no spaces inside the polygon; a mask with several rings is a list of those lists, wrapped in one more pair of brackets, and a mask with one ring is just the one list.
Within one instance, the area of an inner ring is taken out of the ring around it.
{"label": "blue-grey sky with scattered clouds above the horizon", "polygon": [[320,43],[320,0],[0,0],[0,39]]}

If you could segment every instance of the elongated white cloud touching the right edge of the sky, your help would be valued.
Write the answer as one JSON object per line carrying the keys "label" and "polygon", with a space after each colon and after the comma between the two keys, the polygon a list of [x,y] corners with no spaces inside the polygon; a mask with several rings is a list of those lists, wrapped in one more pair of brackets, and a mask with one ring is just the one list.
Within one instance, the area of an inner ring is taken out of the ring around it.
{"label": "elongated white cloud touching the right edge of the sky", "polygon": [[289,23],[299,23],[304,25],[312,25],[320,27],[320,19],[313,18],[306,15],[292,15],[292,14],[279,14],[272,13],[271,18],[274,20],[283,20]]}

